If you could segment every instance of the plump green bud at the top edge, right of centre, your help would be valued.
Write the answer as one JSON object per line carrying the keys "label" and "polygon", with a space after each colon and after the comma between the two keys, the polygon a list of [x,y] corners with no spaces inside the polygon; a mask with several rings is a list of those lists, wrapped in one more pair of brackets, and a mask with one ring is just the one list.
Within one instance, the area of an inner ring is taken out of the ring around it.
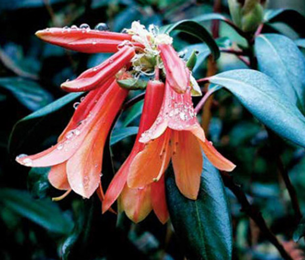
{"label": "plump green bud at the top edge, right of centre", "polygon": [[267,0],[228,0],[233,22],[244,32],[254,32],[263,21]]}

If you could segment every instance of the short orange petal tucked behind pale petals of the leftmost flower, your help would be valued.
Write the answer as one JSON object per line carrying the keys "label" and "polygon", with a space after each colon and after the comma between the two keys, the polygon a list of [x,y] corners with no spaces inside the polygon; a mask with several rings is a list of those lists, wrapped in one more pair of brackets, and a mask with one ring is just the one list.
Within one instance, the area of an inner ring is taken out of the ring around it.
{"label": "short orange petal tucked behind pale petals of the leftmost flower", "polygon": [[67,178],[66,165],[66,162],[54,165],[48,174],[49,182],[58,190],[71,189]]}

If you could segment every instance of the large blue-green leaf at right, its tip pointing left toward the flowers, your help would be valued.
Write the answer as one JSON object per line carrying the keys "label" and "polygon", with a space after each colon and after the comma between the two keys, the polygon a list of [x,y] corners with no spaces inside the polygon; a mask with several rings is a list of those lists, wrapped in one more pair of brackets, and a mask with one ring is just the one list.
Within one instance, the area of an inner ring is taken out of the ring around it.
{"label": "large blue-green leaf at right, its tip pointing left toward the flowers", "polygon": [[278,83],[255,70],[231,70],[209,81],[224,86],[263,124],[305,147],[305,118]]}

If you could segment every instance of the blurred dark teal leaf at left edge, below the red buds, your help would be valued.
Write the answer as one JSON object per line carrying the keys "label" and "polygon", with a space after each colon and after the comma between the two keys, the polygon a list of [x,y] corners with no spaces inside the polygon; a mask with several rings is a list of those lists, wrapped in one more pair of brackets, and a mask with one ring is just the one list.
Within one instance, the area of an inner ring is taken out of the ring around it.
{"label": "blurred dark teal leaf at left edge, below the red buds", "polygon": [[9,90],[21,104],[34,111],[53,99],[49,92],[32,80],[19,77],[0,78],[0,86]]}

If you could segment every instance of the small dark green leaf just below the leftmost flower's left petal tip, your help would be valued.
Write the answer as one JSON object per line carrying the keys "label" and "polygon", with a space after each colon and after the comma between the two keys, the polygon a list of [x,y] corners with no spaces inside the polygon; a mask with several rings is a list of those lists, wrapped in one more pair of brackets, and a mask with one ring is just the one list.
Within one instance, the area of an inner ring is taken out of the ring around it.
{"label": "small dark green leaf just below the leftmost flower's left petal tip", "polygon": [[48,181],[49,167],[32,168],[27,176],[27,188],[35,197],[44,198],[50,188]]}

